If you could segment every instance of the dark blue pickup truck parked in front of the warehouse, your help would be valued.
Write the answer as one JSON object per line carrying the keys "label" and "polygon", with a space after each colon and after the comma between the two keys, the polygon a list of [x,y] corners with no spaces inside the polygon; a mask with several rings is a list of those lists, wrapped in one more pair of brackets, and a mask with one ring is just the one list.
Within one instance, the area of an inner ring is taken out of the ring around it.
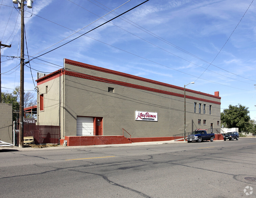
{"label": "dark blue pickup truck parked in front of the warehouse", "polygon": [[205,129],[196,129],[190,135],[187,136],[187,141],[202,142],[204,140],[210,140],[212,142],[214,138],[215,138],[214,133],[207,133]]}

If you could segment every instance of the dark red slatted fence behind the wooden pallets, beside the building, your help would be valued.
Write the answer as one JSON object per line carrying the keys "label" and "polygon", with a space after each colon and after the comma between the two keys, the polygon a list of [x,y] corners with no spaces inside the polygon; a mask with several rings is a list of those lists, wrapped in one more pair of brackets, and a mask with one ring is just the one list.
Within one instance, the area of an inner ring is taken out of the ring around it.
{"label": "dark red slatted fence behind the wooden pallets, beside the building", "polygon": [[[34,137],[35,144],[59,143],[60,126],[23,125],[23,137]],[[19,125],[17,126],[19,129]],[[16,130],[16,145],[19,145],[19,130]]]}

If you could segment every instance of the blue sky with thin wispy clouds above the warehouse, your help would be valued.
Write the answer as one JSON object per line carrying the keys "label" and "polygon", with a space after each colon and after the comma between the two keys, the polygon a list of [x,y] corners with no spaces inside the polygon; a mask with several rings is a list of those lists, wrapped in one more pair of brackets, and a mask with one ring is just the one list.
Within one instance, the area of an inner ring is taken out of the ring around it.
{"label": "blue sky with thin wispy clouds above the warehouse", "polygon": [[[32,9],[25,6],[25,55],[42,55],[143,2],[127,1],[34,0]],[[20,59],[10,57],[20,56],[21,20],[17,4],[0,3],[0,40],[11,44],[1,49],[1,87],[12,92],[20,84]],[[33,59],[32,76],[37,78],[35,70],[62,68],[67,58],[180,87],[195,81],[187,88],[213,95],[219,91],[221,111],[239,103],[256,120],[255,11],[253,0],[149,0],[41,60]],[[27,66],[24,89],[34,90]]]}

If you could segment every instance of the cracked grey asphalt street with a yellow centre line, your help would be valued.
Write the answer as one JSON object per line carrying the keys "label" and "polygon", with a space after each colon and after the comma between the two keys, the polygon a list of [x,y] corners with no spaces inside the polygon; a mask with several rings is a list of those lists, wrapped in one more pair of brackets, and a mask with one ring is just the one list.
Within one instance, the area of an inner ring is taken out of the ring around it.
{"label": "cracked grey asphalt street with a yellow centre line", "polygon": [[3,148],[0,159],[1,197],[256,197],[256,138]]}

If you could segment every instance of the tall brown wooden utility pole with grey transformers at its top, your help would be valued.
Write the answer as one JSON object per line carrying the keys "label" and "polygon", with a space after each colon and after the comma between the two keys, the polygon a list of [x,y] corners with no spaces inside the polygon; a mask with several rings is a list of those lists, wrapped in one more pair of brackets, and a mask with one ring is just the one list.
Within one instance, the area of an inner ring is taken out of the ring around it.
{"label": "tall brown wooden utility pole with grey transformers at its top", "polygon": [[[20,49],[20,134],[19,147],[24,147],[23,140],[23,117],[24,117],[24,1],[13,0],[13,3],[18,4],[21,12],[21,49]],[[27,7],[32,8],[32,0],[26,0]]]}

